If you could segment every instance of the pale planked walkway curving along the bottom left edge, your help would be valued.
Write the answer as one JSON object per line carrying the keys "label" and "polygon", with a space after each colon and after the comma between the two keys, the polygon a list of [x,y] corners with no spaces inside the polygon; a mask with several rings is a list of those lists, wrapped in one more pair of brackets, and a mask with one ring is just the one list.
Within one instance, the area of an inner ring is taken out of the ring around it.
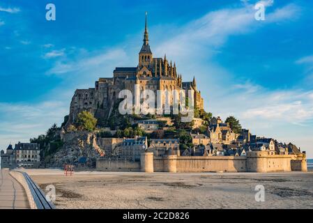
{"label": "pale planked walkway curving along the bottom left edge", "polygon": [[24,188],[8,170],[0,169],[0,209],[26,208],[30,206]]}

